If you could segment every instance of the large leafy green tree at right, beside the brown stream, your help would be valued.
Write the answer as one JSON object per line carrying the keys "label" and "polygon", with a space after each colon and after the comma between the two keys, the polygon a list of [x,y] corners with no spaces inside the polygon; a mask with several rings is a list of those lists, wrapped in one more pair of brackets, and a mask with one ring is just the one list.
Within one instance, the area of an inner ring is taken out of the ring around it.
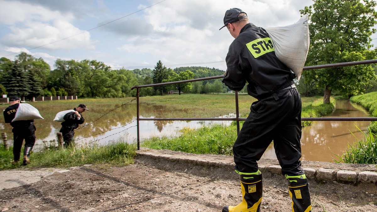
{"label": "large leafy green tree at right, beside the brown stream", "polygon": [[[309,14],[310,49],[306,66],[375,59],[371,50],[372,27],[377,23],[374,0],[314,0],[300,10]],[[371,65],[305,70],[305,83],[315,81],[325,88],[323,103],[331,91],[343,95],[362,92],[366,82],[375,78]]]}

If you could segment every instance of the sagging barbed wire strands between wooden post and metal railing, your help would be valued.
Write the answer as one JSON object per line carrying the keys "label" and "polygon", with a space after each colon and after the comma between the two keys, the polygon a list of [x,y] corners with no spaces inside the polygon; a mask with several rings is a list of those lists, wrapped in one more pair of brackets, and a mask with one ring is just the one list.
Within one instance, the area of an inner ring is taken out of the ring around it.
{"label": "sagging barbed wire strands between wooden post and metal railing", "polygon": [[[102,117],[106,116],[107,114],[111,113],[112,111],[114,111],[114,110],[116,110],[116,109],[118,109],[118,108],[120,108],[120,107],[123,107],[124,105],[130,104],[130,103],[132,103],[132,102],[135,101],[135,100],[136,100],[136,98],[132,99],[132,100],[129,101],[129,102],[123,103],[123,104],[121,104],[120,106],[113,108],[112,110],[107,111],[107,112],[104,113],[102,116],[100,116],[98,119],[96,119],[96,120],[90,122],[89,124],[84,124],[83,126],[77,128],[77,129],[75,129],[75,131],[76,131],[76,130],[80,130],[81,128],[87,127],[87,126],[89,126],[89,125],[92,125],[93,123],[95,123],[96,121],[98,121],[98,120],[101,119]],[[127,124],[125,124],[125,125],[123,125],[123,126],[121,126],[121,127],[112,128],[112,129],[110,129],[110,130],[106,130],[106,131],[103,131],[103,132],[101,132],[101,133],[96,133],[96,134],[93,134],[93,135],[90,135],[90,136],[85,136],[85,137],[82,137],[82,138],[79,138],[79,139],[75,139],[75,141],[84,140],[84,139],[87,139],[87,138],[90,138],[90,137],[98,136],[98,135],[103,134],[103,133],[107,133],[107,132],[112,131],[112,130],[116,130],[116,129],[119,129],[119,128],[124,128],[124,127],[126,127],[127,125],[130,125],[130,124],[132,124],[132,123],[135,122],[135,121],[136,121],[136,119],[132,120],[131,122],[129,122],[129,123],[127,123]],[[126,129],[124,129],[124,130],[122,130],[122,131],[119,131],[119,132],[117,132],[117,133],[113,133],[113,134],[111,134],[111,135],[109,135],[109,136],[106,136],[106,137],[103,137],[103,138],[101,138],[101,139],[93,139],[91,142],[87,142],[86,144],[98,143],[98,141],[100,141],[100,140],[106,139],[106,138],[108,138],[108,137],[110,137],[110,136],[113,136],[113,135],[116,135],[116,134],[120,134],[120,133],[122,133],[122,132],[124,132],[124,131],[127,131],[127,130],[129,130],[130,128],[132,128],[132,127],[136,127],[136,126],[137,126],[137,125],[133,125],[133,126],[128,127],[128,128],[126,128]],[[57,136],[56,136],[56,140],[58,140],[58,137],[57,137]]]}

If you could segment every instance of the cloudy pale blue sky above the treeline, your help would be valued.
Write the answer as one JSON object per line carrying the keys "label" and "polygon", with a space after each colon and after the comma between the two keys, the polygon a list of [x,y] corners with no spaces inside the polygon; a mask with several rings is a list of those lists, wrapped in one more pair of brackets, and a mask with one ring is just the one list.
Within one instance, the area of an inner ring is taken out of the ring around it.
{"label": "cloudy pale blue sky above the treeline", "polygon": [[[233,37],[225,11],[256,26],[293,24],[312,0],[0,0],[0,57],[97,60],[113,69],[204,66],[226,70]],[[372,35],[377,38],[377,34]],[[377,46],[377,39],[373,40]]]}

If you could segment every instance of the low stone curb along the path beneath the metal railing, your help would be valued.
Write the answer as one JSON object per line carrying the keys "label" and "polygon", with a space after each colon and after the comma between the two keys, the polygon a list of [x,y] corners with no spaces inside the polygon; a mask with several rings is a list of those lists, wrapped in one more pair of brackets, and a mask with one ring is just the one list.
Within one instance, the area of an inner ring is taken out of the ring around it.
{"label": "low stone curb along the path beneath the metal railing", "polygon": [[[213,166],[219,168],[227,168],[234,170],[233,157],[218,156],[209,154],[189,154],[168,150],[156,150],[141,148],[136,151],[139,157],[149,157],[158,160],[167,160],[170,162],[189,163],[198,166]],[[275,160],[276,164],[277,160]],[[258,165],[261,172],[270,172],[271,174],[281,174],[279,165]],[[349,165],[352,167],[352,165]],[[375,183],[377,184],[377,171],[362,171],[362,170],[342,170],[332,168],[312,168],[305,167],[305,175],[309,179],[317,181],[338,181],[340,183],[357,184],[357,183]]]}

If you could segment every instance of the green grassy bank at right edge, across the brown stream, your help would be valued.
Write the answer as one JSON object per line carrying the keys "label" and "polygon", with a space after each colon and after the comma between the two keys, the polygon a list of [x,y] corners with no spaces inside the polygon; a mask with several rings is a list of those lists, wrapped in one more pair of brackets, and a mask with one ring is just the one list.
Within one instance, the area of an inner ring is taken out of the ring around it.
{"label": "green grassy bank at right edge, across the brown stream", "polygon": [[[349,100],[356,104],[362,105],[366,110],[369,111],[371,117],[377,117],[377,92],[352,96]],[[377,121],[371,122],[368,128],[372,133],[377,134]]]}

